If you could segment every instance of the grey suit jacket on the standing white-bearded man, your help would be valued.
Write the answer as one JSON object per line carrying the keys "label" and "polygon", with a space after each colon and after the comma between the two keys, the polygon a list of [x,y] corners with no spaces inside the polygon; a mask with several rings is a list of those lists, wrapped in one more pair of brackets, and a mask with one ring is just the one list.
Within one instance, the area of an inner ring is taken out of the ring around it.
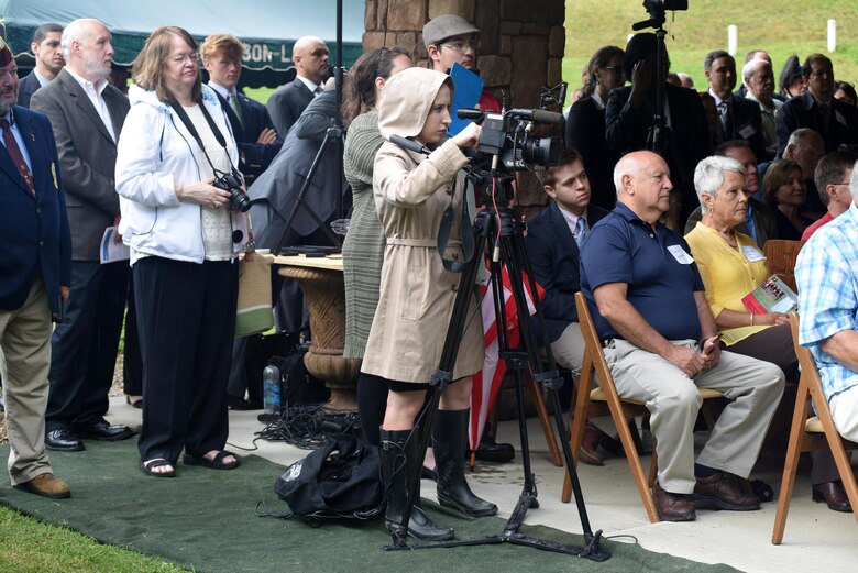
{"label": "grey suit jacket on the standing white-bearded man", "polygon": [[[101,92],[119,140],[129,102],[113,86]],[[105,229],[119,216],[114,184],[117,143],[84,88],[64,68],[33,95],[31,107],[51,120],[66,189],[74,261],[98,261]]]}

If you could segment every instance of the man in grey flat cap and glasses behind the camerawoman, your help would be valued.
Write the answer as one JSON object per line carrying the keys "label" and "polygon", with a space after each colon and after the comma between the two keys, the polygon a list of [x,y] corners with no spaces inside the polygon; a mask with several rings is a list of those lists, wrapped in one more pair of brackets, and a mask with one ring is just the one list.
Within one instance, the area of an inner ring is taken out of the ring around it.
{"label": "man in grey flat cap and glasses behind the camerawoman", "polygon": [[[442,14],[431,19],[424,26],[424,44],[432,62],[432,69],[449,74],[453,64],[479,74],[476,52],[480,49],[480,30],[464,18]],[[480,109],[501,113],[501,100],[491,91],[483,90]]]}

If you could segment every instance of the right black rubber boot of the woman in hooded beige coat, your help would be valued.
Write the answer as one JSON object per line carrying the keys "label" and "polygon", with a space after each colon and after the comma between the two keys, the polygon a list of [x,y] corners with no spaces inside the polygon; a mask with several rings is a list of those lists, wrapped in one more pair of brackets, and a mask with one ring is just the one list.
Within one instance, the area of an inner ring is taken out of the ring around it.
{"label": "right black rubber boot of the woman in hooded beige coat", "polygon": [[438,472],[438,502],[471,517],[497,514],[497,506],[474,495],[464,477],[465,437],[470,410],[438,410],[432,447]]}

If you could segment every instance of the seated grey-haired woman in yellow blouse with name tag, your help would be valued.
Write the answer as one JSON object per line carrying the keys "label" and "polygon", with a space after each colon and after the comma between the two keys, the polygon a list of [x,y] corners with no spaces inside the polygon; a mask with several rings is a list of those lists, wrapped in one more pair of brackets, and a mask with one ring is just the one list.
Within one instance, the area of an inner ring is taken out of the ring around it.
{"label": "seated grey-haired woman in yellow blouse with name tag", "polygon": [[[745,221],[748,199],[743,192],[745,167],[729,157],[707,157],[694,172],[694,187],[703,219],[685,235],[697,263],[706,300],[722,334],[722,344],[758,360],[777,364],[788,381],[798,381],[799,361],[787,316],[751,315],[741,298],[771,273],[754,239],[734,228]],[[811,454],[814,500],[837,511],[849,511],[849,500],[828,451]]]}

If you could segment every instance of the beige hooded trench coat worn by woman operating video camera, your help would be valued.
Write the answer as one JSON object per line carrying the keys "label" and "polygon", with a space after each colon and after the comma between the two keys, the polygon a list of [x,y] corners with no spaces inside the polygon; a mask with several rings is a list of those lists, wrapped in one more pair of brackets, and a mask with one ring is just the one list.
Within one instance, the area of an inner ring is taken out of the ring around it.
{"label": "beige hooded trench coat worn by woman operating video camera", "polygon": [[[424,68],[400,71],[384,87],[382,135],[414,137],[449,77]],[[441,360],[461,274],[443,268],[437,236],[452,201],[455,218],[444,257],[463,260],[461,217],[466,158],[452,141],[426,156],[385,142],[375,156],[373,192],[387,236],[378,307],[362,371],[391,381],[428,383]],[[455,192],[453,194],[453,187]],[[472,297],[453,379],[483,367],[483,321]]]}

